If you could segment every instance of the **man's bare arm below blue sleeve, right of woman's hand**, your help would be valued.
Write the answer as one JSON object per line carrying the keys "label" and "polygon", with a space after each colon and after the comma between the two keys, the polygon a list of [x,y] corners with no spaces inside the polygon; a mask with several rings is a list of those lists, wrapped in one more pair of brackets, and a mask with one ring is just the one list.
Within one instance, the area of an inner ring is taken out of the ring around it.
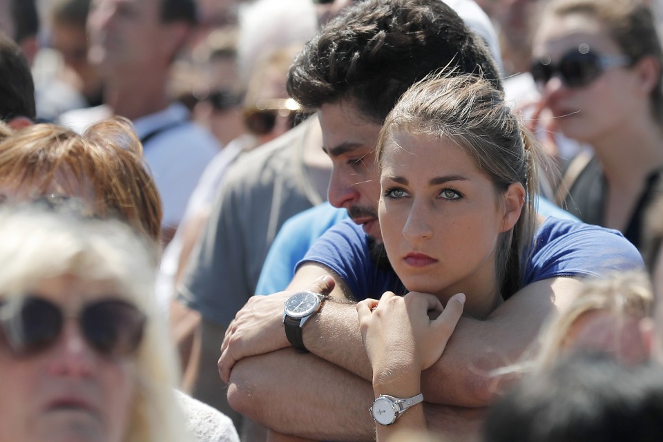
{"label": "man's bare arm below blue sleeve, right of woman's hand", "polygon": [[489,405],[498,387],[517,378],[516,374],[499,378],[492,372],[520,362],[523,352],[534,349],[541,325],[575,298],[581,283],[575,278],[535,282],[485,321],[461,318],[442,357],[422,373],[426,401],[459,407]]}

